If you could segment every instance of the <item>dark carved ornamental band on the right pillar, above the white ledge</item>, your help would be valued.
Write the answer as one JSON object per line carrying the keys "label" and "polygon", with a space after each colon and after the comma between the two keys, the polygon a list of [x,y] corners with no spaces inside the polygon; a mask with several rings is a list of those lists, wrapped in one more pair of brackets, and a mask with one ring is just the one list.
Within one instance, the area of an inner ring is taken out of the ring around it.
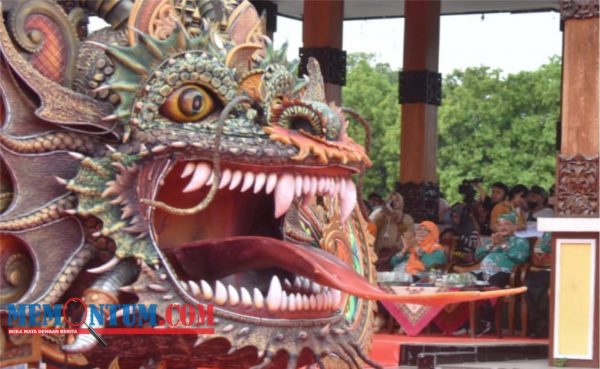
{"label": "dark carved ornamental band on the right pillar, above the white ledge", "polygon": [[598,216],[598,172],[598,156],[558,156],[558,215]]}

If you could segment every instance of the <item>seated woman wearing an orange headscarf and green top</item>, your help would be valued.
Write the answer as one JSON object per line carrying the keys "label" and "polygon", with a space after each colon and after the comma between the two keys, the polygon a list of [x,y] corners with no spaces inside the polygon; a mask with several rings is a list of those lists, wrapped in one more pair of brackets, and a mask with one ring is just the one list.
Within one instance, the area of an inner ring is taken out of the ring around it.
{"label": "seated woman wearing an orange headscarf and green top", "polygon": [[438,243],[440,231],[435,223],[424,221],[417,226],[417,233],[407,232],[402,251],[390,259],[394,270],[411,275],[429,271],[432,266],[446,263],[444,247]]}

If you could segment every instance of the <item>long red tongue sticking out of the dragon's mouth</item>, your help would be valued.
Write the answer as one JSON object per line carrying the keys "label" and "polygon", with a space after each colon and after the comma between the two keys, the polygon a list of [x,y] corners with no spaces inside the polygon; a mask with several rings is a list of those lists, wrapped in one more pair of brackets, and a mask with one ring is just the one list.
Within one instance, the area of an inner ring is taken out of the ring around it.
{"label": "long red tongue sticking out of the dragon's mouth", "polygon": [[[189,275],[202,270],[242,272],[280,267],[309,277],[329,287],[370,300],[390,300],[416,304],[447,304],[524,292],[525,289],[490,292],[447,292],[435,295],[394,295],[381,290],[356,273],[349,265],[315,248],[294,245],[267,237],[242,236],[198,241],[174,251],[180,266]],[[214,273],[212,273],[214,274]]]}

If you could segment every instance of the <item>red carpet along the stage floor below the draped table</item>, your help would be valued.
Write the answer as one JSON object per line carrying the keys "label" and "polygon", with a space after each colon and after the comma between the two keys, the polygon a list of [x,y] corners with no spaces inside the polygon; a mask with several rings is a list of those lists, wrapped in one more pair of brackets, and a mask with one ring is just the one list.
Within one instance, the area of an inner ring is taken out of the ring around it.
{"label": "red carpet along the stage floor below the draped table", "polygon": [[441,335],[420,335],[417,337],[409,337],[405,335],[396,334],[376,334],[373,339],[373,349],[371,351],[371,358],[379,364],[386,366],[398,365],[398,359],[400,357],[400,345],[403,343],[422,343],[422,344],[467,344],[477,345],[481,343],[485,344],[511,344],[511,343],[542,343],[548,344],[547,339],[531,339],[531,338],[520,338],[520,337],[448,337]]}

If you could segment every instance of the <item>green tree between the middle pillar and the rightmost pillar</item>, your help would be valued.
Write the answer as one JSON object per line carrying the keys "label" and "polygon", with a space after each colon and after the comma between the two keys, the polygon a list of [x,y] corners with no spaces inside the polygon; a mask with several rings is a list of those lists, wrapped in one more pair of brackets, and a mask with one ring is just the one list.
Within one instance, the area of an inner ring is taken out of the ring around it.
{"label": "green tree between the middle pillar and the rightmost pillar", "polygon": [[463,179],[550,187],[554,181],[561,61],[503,77],[487,67],[444,78],[438,176],[450,202]]}

